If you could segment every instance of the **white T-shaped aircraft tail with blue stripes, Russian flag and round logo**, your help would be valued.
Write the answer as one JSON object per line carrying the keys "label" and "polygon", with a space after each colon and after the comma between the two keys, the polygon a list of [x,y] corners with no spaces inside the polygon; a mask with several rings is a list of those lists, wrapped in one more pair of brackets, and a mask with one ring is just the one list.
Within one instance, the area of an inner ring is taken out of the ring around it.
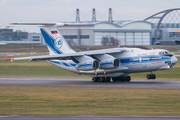
{"label": "white T-shaped aircraft tail with blue stripes, Russian flag and round logo", "polygon": [[12,25],[40,25],[41,33],[49,49],[50,55],[75,53],[61,35],[57,26],[64,26],[63,23],[11,23]]}

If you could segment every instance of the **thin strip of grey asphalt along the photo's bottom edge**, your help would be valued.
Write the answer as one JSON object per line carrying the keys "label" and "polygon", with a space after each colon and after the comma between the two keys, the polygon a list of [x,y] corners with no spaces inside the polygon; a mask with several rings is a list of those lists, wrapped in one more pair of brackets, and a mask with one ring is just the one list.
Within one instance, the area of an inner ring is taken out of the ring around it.
{"label": "thin strip of grey asphalt along the photo's bottom edge", "polygon": [[180,120],[176,116],[1,116],[0,120]]}

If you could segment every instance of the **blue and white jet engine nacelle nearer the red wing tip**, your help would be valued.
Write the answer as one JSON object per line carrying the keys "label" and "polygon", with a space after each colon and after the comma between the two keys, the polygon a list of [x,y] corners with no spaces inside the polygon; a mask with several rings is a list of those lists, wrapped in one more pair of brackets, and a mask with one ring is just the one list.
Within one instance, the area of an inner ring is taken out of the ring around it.
{"label": "blue and white jet engine nacelle nearer the red wing tip", "polygon": [[97,60],[88,60],[86,62],[78,63],[76,65],[77,70],[96,70],[99,68],[99,61]]}

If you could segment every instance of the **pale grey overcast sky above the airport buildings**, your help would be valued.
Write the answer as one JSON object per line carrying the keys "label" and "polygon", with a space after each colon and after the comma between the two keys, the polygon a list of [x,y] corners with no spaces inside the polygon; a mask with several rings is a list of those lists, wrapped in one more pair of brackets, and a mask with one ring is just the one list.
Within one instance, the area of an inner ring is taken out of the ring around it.
{"label": "pale grey overcast sky above the airport buildings", "polygon": [[[97,19],[106,16],[112,8],[113,18],[143,20],[166,9],[180,8],[180,0],[0,0],[0,28],[11,22],[75,21],[77,8],[83,13],[81,19],[91,16],[92,8],[96,9]],[[40,32],[34,26],[12,28]]]}

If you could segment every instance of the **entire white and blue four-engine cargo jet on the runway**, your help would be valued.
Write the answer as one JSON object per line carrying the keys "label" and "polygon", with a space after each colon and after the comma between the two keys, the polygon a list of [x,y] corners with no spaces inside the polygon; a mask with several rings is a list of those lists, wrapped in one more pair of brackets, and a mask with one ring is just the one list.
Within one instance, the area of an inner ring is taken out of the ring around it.
{"label": "entire white and blue four-engine cargo jet on the runway", "polygon": [[48,62],[77,74],[89,75],[93,82],[129,82],[131,73],[150,72],[147,79],[155,79],[152,71],[170,70],[177,58],[164,49],[113,48],[75,52],[58,30],[65,23],[11,23],[11,25],[38,25],[49,50],[49,55],[8,58],[5,60]]}

